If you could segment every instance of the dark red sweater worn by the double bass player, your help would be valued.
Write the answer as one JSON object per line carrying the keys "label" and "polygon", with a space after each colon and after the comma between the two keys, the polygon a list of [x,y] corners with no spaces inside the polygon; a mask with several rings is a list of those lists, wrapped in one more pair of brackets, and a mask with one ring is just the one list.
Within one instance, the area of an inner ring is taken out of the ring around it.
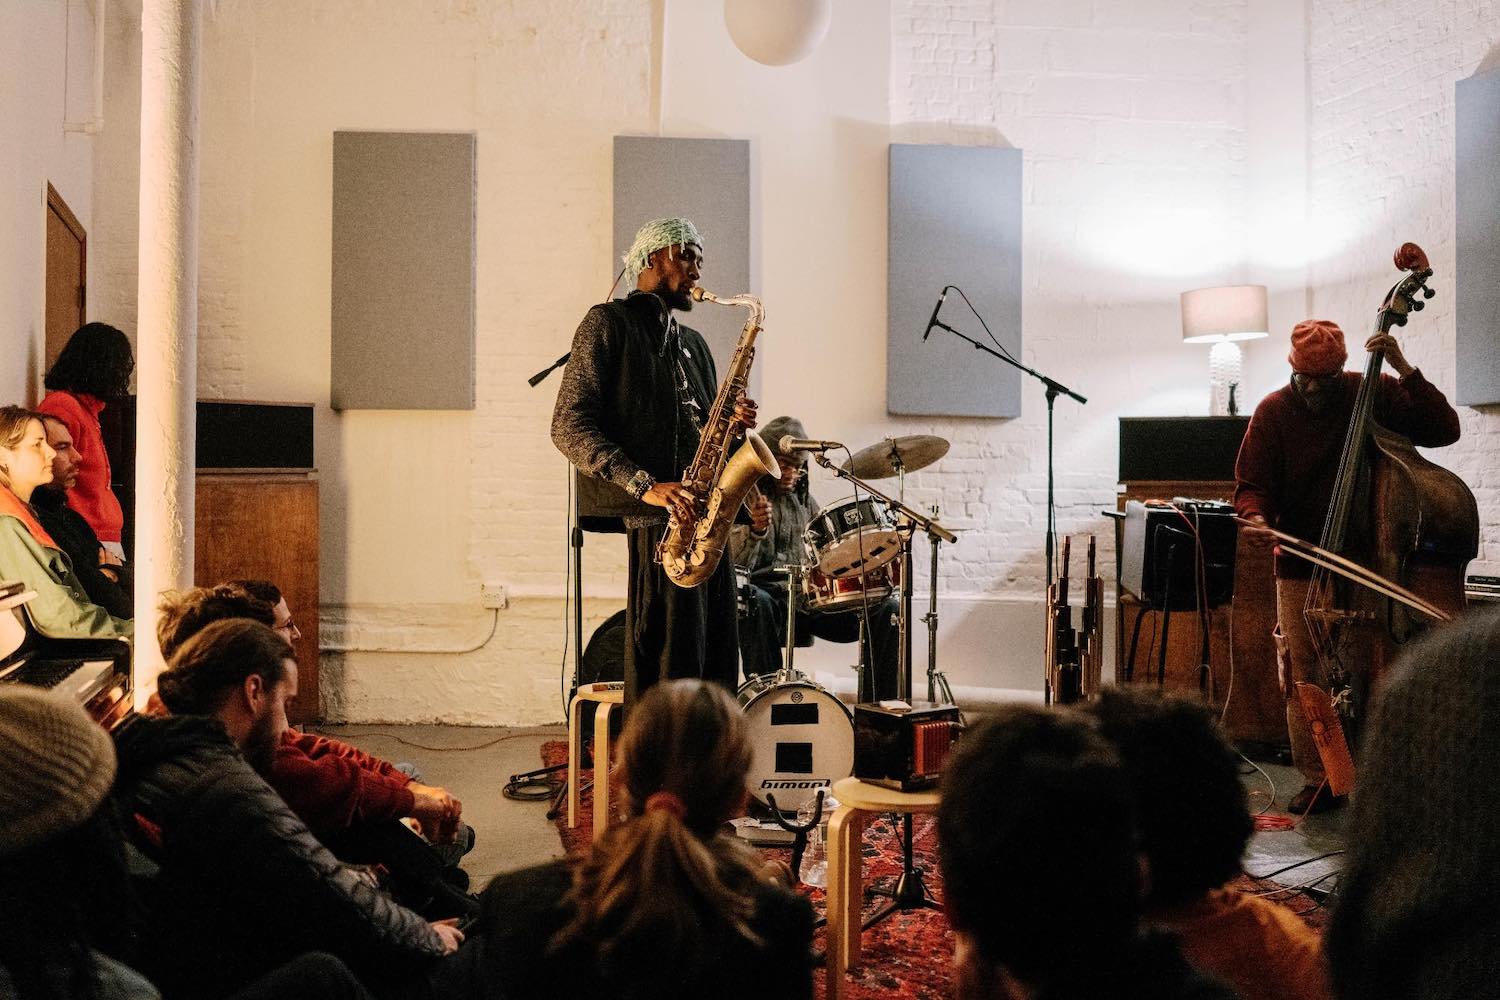
{"label": "dark red sweater worn by the double bass player", "polygon": [[[1342,376],[1342,394],[1322,414],[1310,411],[1290,382],[1256,406],[1234,462],[1234,508],[1242,517],[1260,514],[1272,528],[1305,541],[1316,543],[1323,535],[1354,394],[1364,378],[1359,372]],[[1458,414],[1418,370],[1402,379],[1380,376],[1374,417],[1424,448],[1458,441]],[[1276,576],[1306,577],[1311,571],[1302,559],[1276,556]]]}

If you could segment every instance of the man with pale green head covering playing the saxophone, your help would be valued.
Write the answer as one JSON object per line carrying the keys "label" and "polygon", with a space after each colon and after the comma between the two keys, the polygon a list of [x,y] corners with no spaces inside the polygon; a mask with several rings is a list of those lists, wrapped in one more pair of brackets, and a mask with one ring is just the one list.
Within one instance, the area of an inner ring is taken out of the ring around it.
{"label": "man with pale green head covering playing the saxophone", "polygon": [[[698,450],[717,394],[708,343],[676,313],[693,307],[704,240],[687,219],[640,226],[624,256],[636,288],[588,310],[573,334],[552,411],[552,442],[588,475],[621,487],[630,550],[626,591],[626,706],[652,684],[702,678],[735,690],[738,640],[734,570],[722,561],[698,588],[674,585],[656,561],[668,513],[696,516],[680,477]],[[754,427],[756,405],[735,417]],[[768,519],[764,507],[758,519]]]}

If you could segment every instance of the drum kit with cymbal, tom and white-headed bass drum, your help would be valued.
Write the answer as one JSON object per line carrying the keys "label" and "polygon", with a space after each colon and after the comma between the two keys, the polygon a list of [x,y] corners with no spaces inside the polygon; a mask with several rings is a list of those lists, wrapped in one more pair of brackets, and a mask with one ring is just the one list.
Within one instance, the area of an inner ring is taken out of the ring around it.
{"label": "drum kit with cymbal, tom and white-headed bass drum", "polygon": [[[831,442],[830,442],[831,444]],[[802,534],[806,561],[777,567],[788,594],[786,658],[780,670],[753,676],[740,688],[740,705],[750,730],[748,784],[754,798],[782,813],[795,813],[819,790],[854,772],[854,714],[826,688],[792,664],[796,642],[795,615],[826,615],[868,609],[900,595],[897,690],[912,700],[912,538],[924,532],[932,543],[932,579],[927,625],[927,700],[952,702],[948,681],[938,670],[938,546],[957,537],[904,502],[906,474],[938,462],[948,442],[933,435],[886,438],[855,451],[836,466],[824,453],[813,460],[846,480],[854,496],[822,508]],[[898,495],[870,486],[868,480],[898,480]],[[750,582],[736,571],[740,592]],[[744,598],[741,598],[744,600]],[[746,604],[741,604],[746,610]],[[861,663],[868,669],[868,645],[861,642]]]}

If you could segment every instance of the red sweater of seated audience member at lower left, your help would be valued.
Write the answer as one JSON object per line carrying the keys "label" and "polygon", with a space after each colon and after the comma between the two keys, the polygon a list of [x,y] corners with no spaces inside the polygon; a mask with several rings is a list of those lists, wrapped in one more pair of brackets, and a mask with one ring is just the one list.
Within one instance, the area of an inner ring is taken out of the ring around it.
{"label": "red sweater of seated audience member at lower left", "polygon": [[354,823],[411,816],[410,784],[378,757],[297,730],[286,730],[270,774],[270,786],[322,841]]}

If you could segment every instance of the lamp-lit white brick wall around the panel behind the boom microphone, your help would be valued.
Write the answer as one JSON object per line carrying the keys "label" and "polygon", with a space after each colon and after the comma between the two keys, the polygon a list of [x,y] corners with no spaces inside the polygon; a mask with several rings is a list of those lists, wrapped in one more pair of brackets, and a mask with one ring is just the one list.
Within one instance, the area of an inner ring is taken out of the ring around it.
{"label": "lamp-lit white brick wall around the panel behind the boom microphone", "polygon": [[[1118,418],[1206,412],[1178,294],[1240,279],[1244,84],[1244,3],[892,4],[894,138],[1026,153],[1024,360],[1089,396],[1058,402],[1058,522],[1107,574]],[[1038,600],[1044,420],[1028,384],[1020,420],[933,421],[954,448],[909,484],[968,529],[945,592]]]}

